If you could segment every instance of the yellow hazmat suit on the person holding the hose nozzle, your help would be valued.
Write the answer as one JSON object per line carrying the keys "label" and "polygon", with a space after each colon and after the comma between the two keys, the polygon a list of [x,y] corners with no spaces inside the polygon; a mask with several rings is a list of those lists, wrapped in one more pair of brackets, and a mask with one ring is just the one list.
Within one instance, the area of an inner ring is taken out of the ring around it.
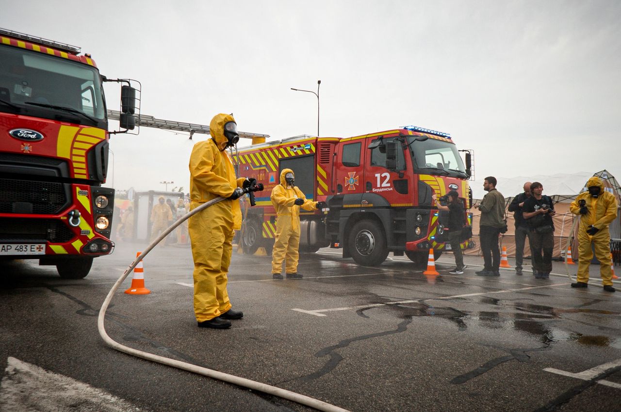
{"label": "yellow hazmat suit on the person holding the hose nozzle", "polygon": [[[224,125],[235,122],[228,114],[215,115],[209,124],[211,139],[194,145],[190,155],[190,210],[216,197],[230,197],[245,178],[224,151]],[[215,141],[214,141],[215,140]],[[242,226],[238,200],[222,200],[189,218],[188,231],[194,258],[194,313],[199,322],[211,320],[231,307],[227,272],[233,250],[233,230]]]}

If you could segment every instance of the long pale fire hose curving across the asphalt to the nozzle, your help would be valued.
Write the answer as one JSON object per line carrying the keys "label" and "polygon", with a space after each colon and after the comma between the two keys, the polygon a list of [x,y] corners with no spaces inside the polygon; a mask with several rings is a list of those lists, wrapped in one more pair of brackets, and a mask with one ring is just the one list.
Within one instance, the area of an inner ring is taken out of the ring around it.
{"label": "long pale fire hose curving across the asphalt to the nozzle", "polygon": [[108,292],[108,295],[106,299],[104,300],[104,303],[101,305],[101,309],[99,310],[99,317],[97,318],[97,329],[99,329],[99,335],[101,335],[101,338],[104,339],[104,342],[106,342],[106,344],[112,347],[113,349],[116,349],[117,351],[124,352],[132,356],[140,357],[142,359],[147,359],[147,361],[158,362],[160,364],[176,367],[178,369],[187,370],[188,372],[193,372],[194,374],[204,375],[206,377],[222,380],[224,382],[233,383],[234,385],[238,385],[241,387],[246,387],[246,388],[257,390],[263,393],[268,393],[269,395],[279,396],[280,398],[294,401],[302,405],[311,406],[311,408],[315,408],[316,410],[319,410],[319,411],[349,412],[343,408],[339,408],[338,406],[330,405],[329,403],[326,403],[324,401],[311,398],[310,396],[301,395],[299,393],[291,392],[291,391],[288,391],[282,388],[273,387],[271,385],[267,385],[266,383],[256,382],[255,380],[250,380],[250,379],[238,377],[235,375],[225,374],[223,372],[218,372],[217,370],[207,369],[205,367],[201,367],[198,365],[188,364],[187,362],[176,361],[175,359],[170,359],[168,357],[163,357],[163,356],[158,356],[158,355],[148,353],[148,352],[138,351],[138,349],[133,349],[132,347],[124,346],[114,341],[106,333],[106,328],[104,328],[104,319],[106,318],[106,310],[108,308],[108,305],[110,304],[110,301],[112,300],[112,296],[114,296],[114,293],[117,291],[117,289],[119,289],[120,285],[122,284],[123,280],[125,280],[127,275],[132,273],[132,271],[134,270],[134,267],[136,267],[138,262],[140,262],[145,256],[147,256],[147,254],[156,246],[156,244],[160,243],[160,241],[166,238],[166,236],[168,236],[168,234],[171,231],[175,230],[177,226],[179,226],[189,217],[195,215],[196,213],[201,212],[201,210],[207,207],[210,207],[211,205],[216,204],[217,202],[221,202],[222,200],[225,200],[225,199],[223,197],[217,197],[216,199],[209,200],[209,202],[206,202],[200,205],[194,210],[191,210],[191,212],[186,213],[185,215],[180,217],[178,220],[176,220],[175,223],[173,223],[173,225],[171,225],[168,229],[166,229],[164,233],[162,233],[156,240],[152,241],[147,246],[145,251],[143,251],[140,254],[140,256],[138,256],[135,259],[135,261],[132,262],[132,264],[130,264],[129,267],[127,267],[127,269],[125,269],[125,272],[119,277],[119,279],[116,281],[114,286],[112,286],[112,289],[110,290],[110,292]]}

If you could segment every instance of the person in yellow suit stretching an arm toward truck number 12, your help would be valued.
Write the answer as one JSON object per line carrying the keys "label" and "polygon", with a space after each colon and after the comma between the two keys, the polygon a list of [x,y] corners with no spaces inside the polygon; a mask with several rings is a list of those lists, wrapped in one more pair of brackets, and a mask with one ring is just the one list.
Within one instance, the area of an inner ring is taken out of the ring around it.
{"label": "person in yellow suit stretching an arm toward truck number 12", "polygon": [[300,244],[300,207],[304,210],[323,208],[323,202],[307,200],[302,190],[294,186],[295,175],[291,169],[280,172],[280,184],[272,189],[270,199],[276,209],[276,239],[272,251],[272,276],[283,279],[283,261],[287,277],[301,278],[297,273]]}

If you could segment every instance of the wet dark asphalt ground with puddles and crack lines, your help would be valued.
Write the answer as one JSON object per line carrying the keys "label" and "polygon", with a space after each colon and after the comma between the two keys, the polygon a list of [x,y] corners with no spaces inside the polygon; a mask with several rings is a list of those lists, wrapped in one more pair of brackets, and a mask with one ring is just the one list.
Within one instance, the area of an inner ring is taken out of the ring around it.
{"label": "wet dark asphalt ground with puddles and crack lines", "polygon": [[[107,347],[97,311],[141,247],[117,243],[82,280],[0,263],[1,370],[15,357],[145,411],[311,410]],[[351,411],[619,410],[621,292],[571,289],[558,262],[550,280],[509,269],[489,279],[474,275],[475,257],[449,275],[442,256],[442,275],[425,277],[407,258],[360,267],[339,256],[303,255],[304,279],[273,280],[269,256],[233,253],[229,295],[245,316],[221,331],[196,327],[189,248],[158,246],[144,261],[152,293],[118,292],[106,328],[127,346]]]}

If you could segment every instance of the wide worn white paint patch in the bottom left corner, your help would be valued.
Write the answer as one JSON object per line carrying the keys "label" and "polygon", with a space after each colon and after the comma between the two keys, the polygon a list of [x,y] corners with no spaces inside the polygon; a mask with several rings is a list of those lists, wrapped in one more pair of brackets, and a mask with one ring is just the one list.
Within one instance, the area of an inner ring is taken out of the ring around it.
{"label": "wide worn white paint patch in the bottom left corner", "polygon": [[140,411],[111,393],[14,357],[7,359],[5,372],[0,386],[3,411]]}

